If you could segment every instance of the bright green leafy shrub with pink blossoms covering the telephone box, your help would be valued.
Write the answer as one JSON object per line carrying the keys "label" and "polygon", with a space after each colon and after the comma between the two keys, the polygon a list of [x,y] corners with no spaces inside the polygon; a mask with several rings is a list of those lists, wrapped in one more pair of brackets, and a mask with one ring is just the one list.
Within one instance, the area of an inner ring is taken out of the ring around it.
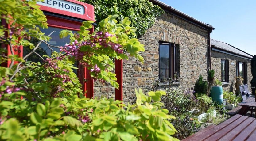
{"label": "bright green leafy shrub with pink blossoms covering the telephone box", "polygon": [[[0,55],[0,63],[11,61],[9,67],[0,67],[0,140],[177,140],[171,136],[177,131],[168,121],[174,116],[161,108],[164,104],[160,97],[165,92],[151,91],[146,96],[142,90],[135,90],[137,101],[133,105],[113,99],[88,99],[73,72],[77,61],[91,70],[93,79],[118,88],[111,73],[112,60],[127,58],[122,54],[125,49],[143,62],[139,55],[143,45],[128,36],[135,32],[128,18],[117,24],[118,15],[109,16],[93,34],[88,31],[92,21],[83,22],[77,34],[64,30],[60,37],[70,35],[71,43],[51,57],[39,55],[44,61],[35,63],[25,59],[38,55],[36,49],[50,38],[38,28],[47,28],[45,16],[35,0],[0,2],[0,19],[11,27],[0,28],[1,43],[11,49],[11,55]],[[39,43],[30,43],[30,37]],[[19,58],[13,52],[19,51],[19,45],[30,46],[32,51]]]}

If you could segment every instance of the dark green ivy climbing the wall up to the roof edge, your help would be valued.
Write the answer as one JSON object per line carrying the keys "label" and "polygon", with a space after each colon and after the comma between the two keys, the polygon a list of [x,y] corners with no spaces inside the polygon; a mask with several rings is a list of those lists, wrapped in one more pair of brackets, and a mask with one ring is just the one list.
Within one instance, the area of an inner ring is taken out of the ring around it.
{"label": "dark green ivy climbing the wall up to the roof edge", "polygon": [[162,15],[164,10],[148,0],[79,0],[94,6],[95,19],[98,24],[108,15],[118,14],[118,21],[129,17],[131,27],[137,28],[137,36],[142,36]]}

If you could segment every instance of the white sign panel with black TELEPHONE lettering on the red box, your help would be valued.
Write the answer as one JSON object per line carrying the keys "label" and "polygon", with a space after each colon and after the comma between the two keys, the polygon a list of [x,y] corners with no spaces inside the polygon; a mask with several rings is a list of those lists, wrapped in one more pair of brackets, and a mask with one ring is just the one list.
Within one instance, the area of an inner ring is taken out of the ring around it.
{"label": "white sign panel with black TELEPHONE lettering on the red box", "polygon": [[82,5],[65,0],[44,0],[42,2],[37,2],[37,4],[81,15],[83,15],[85,11]]}

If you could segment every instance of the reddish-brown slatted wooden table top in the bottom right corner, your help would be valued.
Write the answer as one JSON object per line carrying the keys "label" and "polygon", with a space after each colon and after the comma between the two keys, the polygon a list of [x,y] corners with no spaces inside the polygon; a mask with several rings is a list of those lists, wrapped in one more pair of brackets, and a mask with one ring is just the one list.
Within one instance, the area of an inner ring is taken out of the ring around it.
{"label": "reddish-brown slatted wooden table top in the bottom right corner", "polygon": [[182,141],[255,141],[256,119],[236,114],[219,125],[200,130]]}

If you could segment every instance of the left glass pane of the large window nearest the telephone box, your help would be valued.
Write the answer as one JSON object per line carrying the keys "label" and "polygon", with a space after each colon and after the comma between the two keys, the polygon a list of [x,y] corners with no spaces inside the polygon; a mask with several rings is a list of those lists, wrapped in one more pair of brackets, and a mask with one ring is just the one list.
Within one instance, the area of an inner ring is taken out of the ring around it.
{"label": "left glass pane of the large window nearest the telephone box", "polygon": [[169,44],[159,45],[159,78],[170,78]]}

